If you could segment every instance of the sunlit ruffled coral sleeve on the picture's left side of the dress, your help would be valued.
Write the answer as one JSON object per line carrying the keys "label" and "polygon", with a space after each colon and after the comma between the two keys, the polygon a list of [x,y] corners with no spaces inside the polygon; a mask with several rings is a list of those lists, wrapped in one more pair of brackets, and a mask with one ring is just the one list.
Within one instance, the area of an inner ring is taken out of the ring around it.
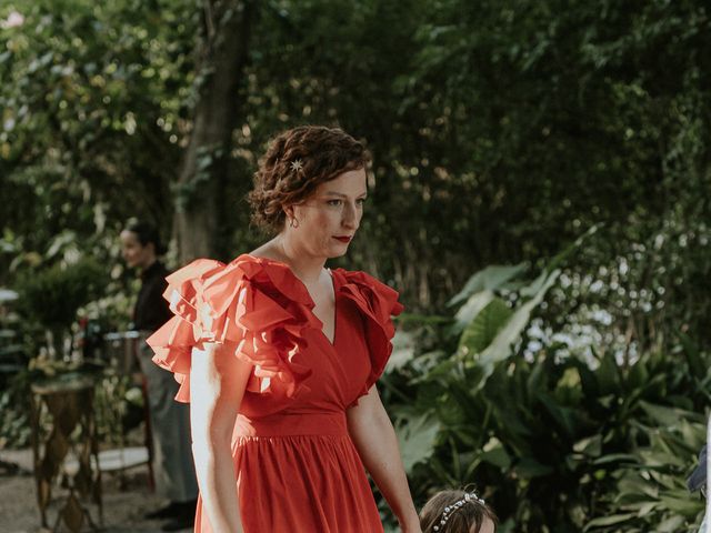
{"label": "sunlit ruffled coral sleeve on the picture's left side of the dress", "polygon": [[289,274],[286,265],[241,255],[229,264],[199,259],[167,278],[163,296],[174,316],[147,342],[153,362],[176,374],[176,400],[190,401],[192,349],[203,342],[254,365],[249,391],[270,393],[278,384],[293,396],[304,386],[311,372],[300,363],[303,330],[320,324],[306,286]]}

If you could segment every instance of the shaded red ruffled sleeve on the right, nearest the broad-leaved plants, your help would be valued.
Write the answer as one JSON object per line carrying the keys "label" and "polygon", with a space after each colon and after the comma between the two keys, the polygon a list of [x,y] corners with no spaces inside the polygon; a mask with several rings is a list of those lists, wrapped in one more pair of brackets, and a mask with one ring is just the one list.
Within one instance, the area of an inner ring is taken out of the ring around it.
{"label": "shaded red ruffled sleeve on the right, nearest the broad-leaved plants", "polygon": [[[360,391],[360,398],[368,394],[370,388],[385,370],[385,364],[392,353],[392,338],[395,334],[392,316],[400,314],[404,308],[398,301],[398,291],[378,281],[372,275],[342,269],[338,269],[336,272],[344,278],[344,282],[340,286],[340,293],[351,300],[363,316],[371,370]],[[357,402],[358,400],[352,405]]]}

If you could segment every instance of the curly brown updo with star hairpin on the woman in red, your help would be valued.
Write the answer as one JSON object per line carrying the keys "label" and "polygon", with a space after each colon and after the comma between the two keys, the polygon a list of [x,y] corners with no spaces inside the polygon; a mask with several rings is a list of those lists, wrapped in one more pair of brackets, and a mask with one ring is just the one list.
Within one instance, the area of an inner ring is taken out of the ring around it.
{"label": "curly brown updo with star hairpin on the woman in red", "polygon": [[302,125],[279,134],[259,161],[249,193],[252,222],[270,233],[284,225],[283,208],[306,200],[316,188],[343,172],[364,169],[362,143],[340,128]]}

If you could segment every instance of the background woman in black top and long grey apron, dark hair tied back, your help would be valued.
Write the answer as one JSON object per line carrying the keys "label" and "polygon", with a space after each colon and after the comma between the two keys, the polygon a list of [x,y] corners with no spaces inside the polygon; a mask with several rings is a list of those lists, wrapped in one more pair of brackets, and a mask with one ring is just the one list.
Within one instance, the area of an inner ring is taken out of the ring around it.
{"label": "background woman in black top and long grey apron, dark hair tied back", "polygon": [[129,268],[138,269],[141,290],[133,309],[133,328],[141,333],[138,360],[148,382],[156,492],[169,503],[146,516],[171,519],[163,531],[177,531],[194,521],[198,483],[190,449],[190,410],[173,400],[178,383],[173,375],[151,362],[146,339],[163,325],[172,313],[163,299],[169,274],[158,257],[166,252],[158,232],[147,223],[133,223],[121,232],[122,255]]}

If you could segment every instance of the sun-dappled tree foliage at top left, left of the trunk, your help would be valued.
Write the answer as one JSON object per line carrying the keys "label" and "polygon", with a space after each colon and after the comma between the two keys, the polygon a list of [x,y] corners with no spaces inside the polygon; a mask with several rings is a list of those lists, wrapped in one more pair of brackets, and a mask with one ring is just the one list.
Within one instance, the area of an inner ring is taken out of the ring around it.
{"label": "sun-dappled tree foliage at top left, left of the trunk", "polygon": [[[0,30],[0,213],[22,251],[64,230],[91,242],[172,213],[190,88],[193,2],[13,1]],[[4,281],[6,261],[0,261]]]}

